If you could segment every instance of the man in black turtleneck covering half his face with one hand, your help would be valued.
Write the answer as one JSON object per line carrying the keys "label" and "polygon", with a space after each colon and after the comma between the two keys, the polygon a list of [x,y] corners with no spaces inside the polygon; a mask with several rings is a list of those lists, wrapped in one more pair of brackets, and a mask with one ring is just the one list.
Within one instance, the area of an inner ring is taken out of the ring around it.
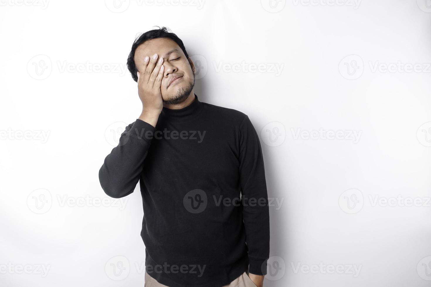
{"label": "man in black turtleneck covering half his face with one hand", "polygon": [[99,179],[113,198],[140,182],[145,286],[262,287],[268,195],[249,118],[199,101],[194,63],[164,27],[137,38],[127,64],[142,113],[106,157]]}

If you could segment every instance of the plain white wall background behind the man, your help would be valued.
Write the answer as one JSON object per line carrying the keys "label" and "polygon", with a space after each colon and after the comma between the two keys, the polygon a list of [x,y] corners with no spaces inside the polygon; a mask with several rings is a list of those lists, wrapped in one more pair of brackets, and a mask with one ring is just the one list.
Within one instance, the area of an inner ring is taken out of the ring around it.
{"label": "plain white wall background behind the man", "polygon": [[265,286],[431,284],[430,1],[0,3],[1,286],[144,286],[140,192],[114,201],[98,171],[154,25],[261,136],[282,201]]}

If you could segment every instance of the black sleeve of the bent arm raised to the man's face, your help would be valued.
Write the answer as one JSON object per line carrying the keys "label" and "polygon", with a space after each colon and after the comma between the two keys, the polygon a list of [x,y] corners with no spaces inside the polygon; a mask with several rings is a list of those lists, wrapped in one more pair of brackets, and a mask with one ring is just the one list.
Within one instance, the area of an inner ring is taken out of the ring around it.
{"label": "black sleeve of the bent arm raised to the man's face", "polygon": [[122,198],[134,191],[155,130],[139,119],[126,127],[99,170],[100,185],[107,195]]}

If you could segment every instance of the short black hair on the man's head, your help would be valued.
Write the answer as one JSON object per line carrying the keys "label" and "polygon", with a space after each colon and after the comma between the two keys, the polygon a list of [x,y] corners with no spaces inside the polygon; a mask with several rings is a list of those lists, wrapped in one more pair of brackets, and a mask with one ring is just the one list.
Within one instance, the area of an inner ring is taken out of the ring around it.
{"label": "short black hair on the man's head", "polygon": [[[156,27],[159,27],[159,26],[156,26]],[[170,32],[169,28],[166,28],[166,27],[160,28],[159,27],[159,29],[147,31],[147,32],[141,34],[141,36],[137,37],[134,40],[133,45],[132,45],[132,49],[131,49],[129,56],[127,58],[127,68],[129,69],[130,74],[132,75],[132,78],[135,82],[137,82],[137,75],[136,75],[137,68],[136,68],[136,65],[134,62],[134,53],[136,51],[136,48],[147,40],[157,39],[157,38],[171,39],[172,41],[177,43],[178,46],[180,46],[181,50],[183,50],[184,55],[186,56],[186,59],[189,58],[187,51],[186,51],[186,48],[184,47],[183,41],[181,41],[181,39],[178,38],[177,35]]]}

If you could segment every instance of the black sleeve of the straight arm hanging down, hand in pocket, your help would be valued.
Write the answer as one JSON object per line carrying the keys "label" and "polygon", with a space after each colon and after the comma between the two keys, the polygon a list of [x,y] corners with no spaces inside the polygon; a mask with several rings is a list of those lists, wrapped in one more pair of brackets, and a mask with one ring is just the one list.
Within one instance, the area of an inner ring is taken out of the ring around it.
{"label": "black sleeve of the straight arm hanging down, hand in pocket", "polygon": [[269,258],[269,207],[259,136],[248,116],[240,125],[240,185],[250,262],[249,272],[266,275]]}

